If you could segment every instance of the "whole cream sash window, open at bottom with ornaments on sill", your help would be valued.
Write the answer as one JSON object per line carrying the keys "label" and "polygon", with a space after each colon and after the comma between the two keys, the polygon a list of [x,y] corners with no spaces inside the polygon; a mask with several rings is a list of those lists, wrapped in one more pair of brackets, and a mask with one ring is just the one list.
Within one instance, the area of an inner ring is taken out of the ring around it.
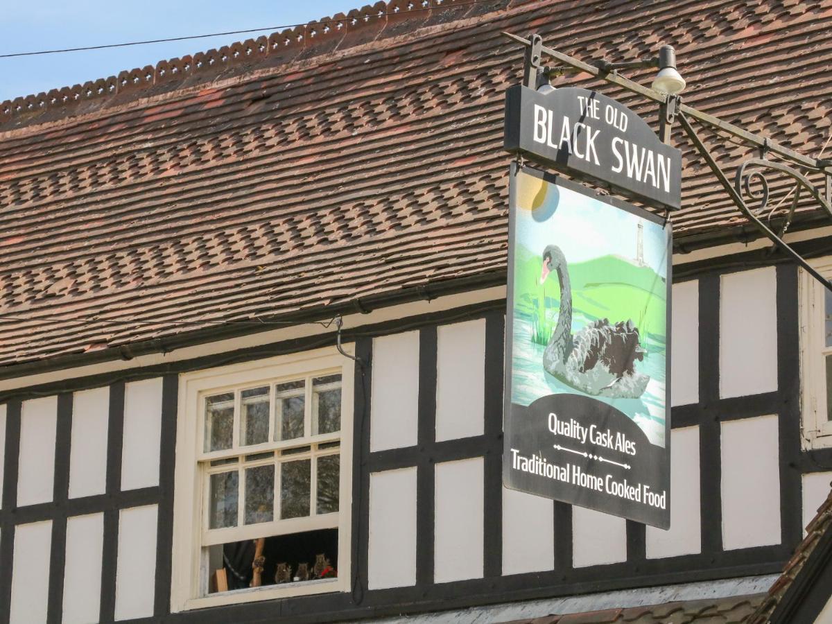
{"label": "whole cream sash window, open at bottom with ornaments on sill", "polygon": [[183,376],[173,610],[349,590],[352,367],[324,349]]}

